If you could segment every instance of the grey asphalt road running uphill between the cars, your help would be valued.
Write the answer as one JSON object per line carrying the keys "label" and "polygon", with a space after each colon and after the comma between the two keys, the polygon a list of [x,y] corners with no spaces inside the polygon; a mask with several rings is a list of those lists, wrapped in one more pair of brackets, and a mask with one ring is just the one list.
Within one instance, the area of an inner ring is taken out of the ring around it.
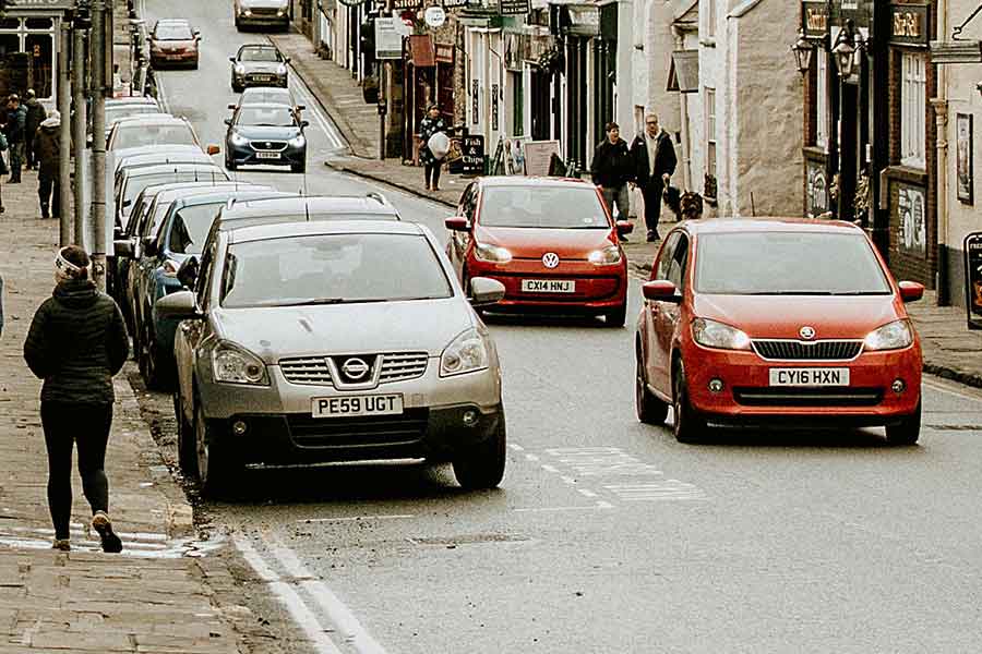
{"label": "grey asphalt road running uphill between the cars", "polygon": [[[265,39],[238,34],[229,4],[149,0],[145,14],[202,32],[201,70],[159,78],[207,143],[224,144],[235,100],[229,55]],[[444,207],[325,168],[337,137],[297,90],[308,174],[240,179],[381,190],[443,232]],[[631,315],[638,298],[635,280]],[[463,493],[447,469],[416,463],[250,471],[237,501],[203,507],[256,595],[279,600],[318,651],[982,649],[982,395],[925,382],[918,447],[887,447],[879,429],[684,446],[634,417],[632,327],[498,319],[492,331],[510,438],[500,489]],[[146,405],[164,414],[169,398]],[[160,428],[172,444],[172,423]]]}

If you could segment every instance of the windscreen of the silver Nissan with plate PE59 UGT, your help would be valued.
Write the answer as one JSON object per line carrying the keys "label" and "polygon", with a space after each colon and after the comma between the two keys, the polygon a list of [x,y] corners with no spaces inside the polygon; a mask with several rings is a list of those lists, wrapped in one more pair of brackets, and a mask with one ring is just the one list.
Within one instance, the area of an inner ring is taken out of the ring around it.
{"label": "windscreen of the silver Nissan with plate PE59 UGT", "polygon": [[299,306],[452,295],[436,253],[421,235],[315,234],[229,247],[221,305]]}

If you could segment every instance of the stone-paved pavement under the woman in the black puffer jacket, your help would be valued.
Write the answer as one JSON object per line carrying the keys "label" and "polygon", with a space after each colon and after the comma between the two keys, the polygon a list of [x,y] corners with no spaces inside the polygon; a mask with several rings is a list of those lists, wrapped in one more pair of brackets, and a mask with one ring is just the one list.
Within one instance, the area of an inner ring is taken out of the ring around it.
{"label": "stone-paved pavement under the woman in the black puffer jacket", "polygon": [[52,290],[58,240],[57,221],[38,218],[36,180],[34,172],[19,185],[2,180],[0,654],[259,652],[247,644],[264,640],[259,620],[237,603],[241,590],[229,567],[211,556],[223,542],[195,540],[191,506],[124,375],[116,379],[107,473],[110,513],[125,549],[101,553],[77,474],[73,548],[50,549],[40,382],[22,354],[34,312]]}

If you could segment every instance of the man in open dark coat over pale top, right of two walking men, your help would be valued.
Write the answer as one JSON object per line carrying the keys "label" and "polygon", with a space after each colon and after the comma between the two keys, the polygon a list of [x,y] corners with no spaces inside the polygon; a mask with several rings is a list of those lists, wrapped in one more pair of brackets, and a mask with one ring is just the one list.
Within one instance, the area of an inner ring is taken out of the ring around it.
{"label": "man in open dark coat over pale top, right of two walking men", "polygon": [[645,198],[645,223],[648,242],[660,241],[658,219],[661,216],[661,193],[669,185],[675,172],[675,148],[672,137],[658,124],[658,117],[645,117],[645,131],[635,136],[631,144],[634,160],[634,179]]}

